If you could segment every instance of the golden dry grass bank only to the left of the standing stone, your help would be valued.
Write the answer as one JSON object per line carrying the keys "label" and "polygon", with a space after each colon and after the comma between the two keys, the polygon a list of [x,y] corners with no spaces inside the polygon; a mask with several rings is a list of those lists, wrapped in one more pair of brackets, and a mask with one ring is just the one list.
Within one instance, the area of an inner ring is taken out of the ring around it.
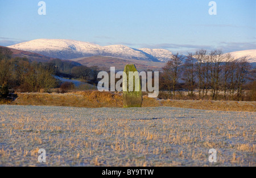
{"label": "golden dry grass bank only to the left of the standing stone", "polygon": [[50,105],[65,107],[122,107],[122,96],[110,92],[86,91],[67,94],[22,93],[12,105]]}

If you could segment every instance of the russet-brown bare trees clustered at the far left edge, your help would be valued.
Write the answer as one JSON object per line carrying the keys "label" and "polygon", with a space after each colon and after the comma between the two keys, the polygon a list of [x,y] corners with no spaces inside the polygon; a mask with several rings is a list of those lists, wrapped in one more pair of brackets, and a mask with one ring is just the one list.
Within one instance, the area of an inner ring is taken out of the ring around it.
{"label": "russet-brown bare trees clustered at the far left edge", "polygon": [[[0,95],[6,96],[8,89],[21,92],[49,90],[57,85],[53,69],[42,63],[31,62],[26,58],[11,58],[12,52],[0,48]],[[0,96],[0,98],[1,98]]]}

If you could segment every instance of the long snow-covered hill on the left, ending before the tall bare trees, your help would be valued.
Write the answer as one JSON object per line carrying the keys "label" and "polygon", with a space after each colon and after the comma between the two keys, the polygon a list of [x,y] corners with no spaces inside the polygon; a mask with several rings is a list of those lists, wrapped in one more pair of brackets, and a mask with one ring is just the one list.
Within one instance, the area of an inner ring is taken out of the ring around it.
{"label": "long snow-covered hill on the left, ending before the tall bare trees", "polygon": [[111,56],[134,60],[160,62],[156,57],[162,55],[151,55],[143,52],[142,50],[129,48],[128,46],[124,45],[100,46],[82,41],[60,39],[32,40],[25,43],[9,46],[9,48],[26,50],[53,58],[61,58],[63,60],[71,60],[73,58],[80,57]]}

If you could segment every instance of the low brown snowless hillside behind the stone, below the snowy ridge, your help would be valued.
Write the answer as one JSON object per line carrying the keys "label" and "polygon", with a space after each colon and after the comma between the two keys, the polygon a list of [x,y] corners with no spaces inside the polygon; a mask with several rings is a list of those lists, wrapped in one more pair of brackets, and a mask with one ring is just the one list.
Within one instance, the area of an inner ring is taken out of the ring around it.
{"label": "low brown snowless hillside behind the stone, below the snowy ridge", "polygon": [[123,58],[115,58],[108,56],[93,56],[93,57],[83,57],[76,58],[71,61],[79,62],[85,66],[98,66],[101,69],[110,67],[115,67],[116,70],[123,70],[125,65],[128,63],[135,63],[139,71],[142,70],[162,70],[162,67],[165,65],[163,62],[150,62],[150,61],[141,61],[141,60],[126,60]]}

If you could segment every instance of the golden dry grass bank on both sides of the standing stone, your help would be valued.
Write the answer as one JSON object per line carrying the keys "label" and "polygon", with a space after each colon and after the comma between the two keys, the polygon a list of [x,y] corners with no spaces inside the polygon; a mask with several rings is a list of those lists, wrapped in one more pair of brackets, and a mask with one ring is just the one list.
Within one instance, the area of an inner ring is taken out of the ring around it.
{"label": "golden dry grass bank on both sides of the standing stone", "polygon": [[[7,103],[3,103],[7,104]],[[67,94],[18,94],[12,105],[51,105],[66,107],[122,107],[122,94],[99,91],[77,91]],[[214,111],[255,112],[255,101],[157,100],[143,96],[143,107],[176,107]]]}

